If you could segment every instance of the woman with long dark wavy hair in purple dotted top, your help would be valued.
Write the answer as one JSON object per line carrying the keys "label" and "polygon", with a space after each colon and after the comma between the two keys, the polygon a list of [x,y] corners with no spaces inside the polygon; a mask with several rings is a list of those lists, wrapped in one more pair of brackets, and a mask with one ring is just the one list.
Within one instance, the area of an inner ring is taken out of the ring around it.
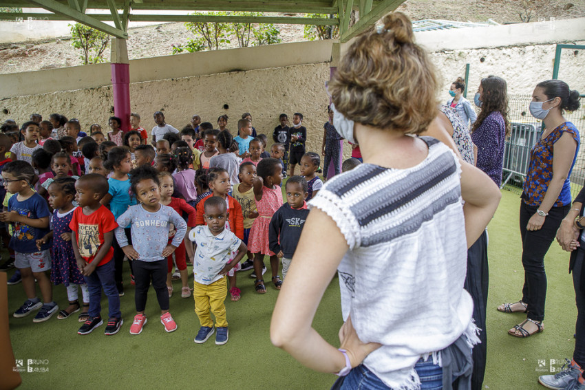
{"label": "woman with long dark wavy hair in purple dotted top", "polygon": [[471,127],[471,140],[478,148],[476,166],[500,186],[504,137],[510,133],[506,80],[498,76],[482,78],[474,101],[481,108]]}

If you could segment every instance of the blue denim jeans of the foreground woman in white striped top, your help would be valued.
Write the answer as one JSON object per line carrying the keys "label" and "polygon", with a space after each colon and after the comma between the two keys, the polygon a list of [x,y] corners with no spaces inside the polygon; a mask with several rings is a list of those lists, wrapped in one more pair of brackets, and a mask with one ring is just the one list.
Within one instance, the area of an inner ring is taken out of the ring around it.
{"label": "blue denim jeans of the foreground woman in white striped top", "polygon": [[[414,369],[418,373],[418,378],[421,379],[421,390],[443,389],[443,369],[439,365],[434,365],[432,358],[429,358],[426,362],[421,358],[414,366]],[[338,382],[340,380],[343,380],[341,387],[336,387],[336,385],[339,386]],[[359,365],[352,369],[345,378],[339,378],[332,389],[392,390],[364,365]]]}

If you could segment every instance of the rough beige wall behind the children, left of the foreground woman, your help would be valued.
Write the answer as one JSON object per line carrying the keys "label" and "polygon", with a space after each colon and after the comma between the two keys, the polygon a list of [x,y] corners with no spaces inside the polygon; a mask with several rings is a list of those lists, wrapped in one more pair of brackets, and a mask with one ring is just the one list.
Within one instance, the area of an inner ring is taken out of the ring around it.
{"label": "rough beige wall behind the children, left of the foreground woman", "polygon": [[[288,114],[292,123],[292,113],[300,112],[308,130],[307,150],[320,153],[323,124],[328,120],[324,83],[329,74],[329,64],[319,63],[134,83],[130,85],[131,109],[140,113],[142,127],[149,133],[155,126],[152,114],[158,110],[179,130],[195,113],[214,126],[218,116],[227,114],[233,136],[237,136],[237,120],[250,112],[257,133],[266,134],[269,145],[279,115]],[[57,112],[79,118],[84,130],[98,123],[107,131],[107,118],[114,115],[112,102],[111,87],[20,96],[3,101],[3,108],[10,113],[0,113],[0,118],[21,123],[32,112],[41,113],[43,118]],[[346,154],[351,154],[348,146]]]}

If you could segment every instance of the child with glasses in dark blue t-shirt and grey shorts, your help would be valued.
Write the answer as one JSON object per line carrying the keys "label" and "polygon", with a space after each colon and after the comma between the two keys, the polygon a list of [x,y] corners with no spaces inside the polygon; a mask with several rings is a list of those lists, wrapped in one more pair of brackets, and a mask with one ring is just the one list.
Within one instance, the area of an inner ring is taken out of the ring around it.
{"label": "child with glasses in dark blue t-shirt and grey shorts", "polygon": [[[27,301],[14,312],[14,317],[28,316],[33,310],[41,309],[33,322],[47,321],[59,308],[53,301],[52,285],[46,271],[51,270],[50,243],[44,243],[41,250],[36,240],[49,232],[49,207],[41,195],[32,189],[34,169],[25,161],[8,162],[3,166],[4,187],[14,196],[8,201],[8,213],[1,213],[0,219],[14,223],[10,248],[14,250],[14,265],[22,274],[22,284]],[[34,279],[39,282],[43,302],[36,297]]]}

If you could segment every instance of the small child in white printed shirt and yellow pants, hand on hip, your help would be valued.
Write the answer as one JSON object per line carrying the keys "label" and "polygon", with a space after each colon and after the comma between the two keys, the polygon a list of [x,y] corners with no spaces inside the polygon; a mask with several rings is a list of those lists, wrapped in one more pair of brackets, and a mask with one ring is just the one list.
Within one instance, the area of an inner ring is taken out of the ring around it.
{"label": "small child in white printed shirt and yellow pants, hand on hip", "polygon": [[[246,244],[225,228],[228,219],[226,201],[221,197],[209,197],[204,201],[206,225],[191,230],[189,239],[197,243],[193,259],[195,313],[201,328],[195,343],[202,344],[214,332],[210,312],[215,316],[217,334],[215,344],[228,342],[228,323],[224,301],[228,294],[226,274],[242,260],[248,250]],[[233,252],[236,252],[232,259]]]}

